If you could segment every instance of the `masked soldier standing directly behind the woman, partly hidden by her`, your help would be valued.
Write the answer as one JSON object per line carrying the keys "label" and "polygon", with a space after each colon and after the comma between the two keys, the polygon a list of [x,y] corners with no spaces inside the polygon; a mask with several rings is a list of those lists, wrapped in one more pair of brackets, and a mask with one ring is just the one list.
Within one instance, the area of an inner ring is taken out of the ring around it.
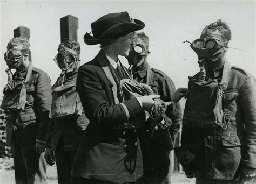
{"label": "masked soldier standing directly behind the woman, partly hidden by her", "polygon": [[[140,83],[148,84],[153,89],[154,94],[160,95],[162,100],[166,102],[178,102],[182,97],[180,96],[178,98],[178,93],[184,93],[183,96],[185,96],[186,89],[179,88],[176,95],[174,95],[176,88],[170,77],[161,70],[151,68],[149,63],[147,63],[147,55],[149,54],[149,37],[144,32],[135,33],[131,52],[126,57],[129,65],[133,66],[133,78]],[[165,114],[172,121],[172,125],[169,127],[172,139],[170,149],[167,148],[169,146],[159,146],[158,141],[163,140],[155,140],[144,129],[141,132],[140,143],[142,146],[144,167],[142,181],[144,183],[171,183],[171,172],[169,171],[170,150],[173,149],[175,138],[180,130],[182,116],[180,104],[174,103],[172,107],[167,108]],[[168,132],[165,133],[168,134]]]}

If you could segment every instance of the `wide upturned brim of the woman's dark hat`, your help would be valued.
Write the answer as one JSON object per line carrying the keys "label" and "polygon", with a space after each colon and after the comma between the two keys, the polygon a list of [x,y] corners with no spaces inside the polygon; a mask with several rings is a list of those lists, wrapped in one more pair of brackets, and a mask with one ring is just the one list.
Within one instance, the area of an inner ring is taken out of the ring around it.
{"label": "wide upturned brim of the woman's dark hat", "polygon": [[84,43],[87,45],[97,45],[103,43],[107,40],[114,40],[119,37],[122,37],[124,33],[130,33],[134,31],[141,30],[145,27],[145,24],[138,20],[133,19],[134,23],[120,23],[110,27],[110,29],[106,30],[99,38],[95,38],[91,36],[89,33],[84,34]]}

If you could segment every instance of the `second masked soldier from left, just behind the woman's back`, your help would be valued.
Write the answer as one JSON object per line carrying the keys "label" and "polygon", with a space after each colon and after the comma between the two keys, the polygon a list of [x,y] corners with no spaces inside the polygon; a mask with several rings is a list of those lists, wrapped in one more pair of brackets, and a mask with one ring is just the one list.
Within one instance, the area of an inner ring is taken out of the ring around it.
{"label": "second masked soldier from left, just behind the woman's back", "polygon": [[79,43],[68,40],[59,45],[54,59],[62,74],[52,86],[51,121],[44,157],[50,165],[56,160],[58,183],[70,183],[73,159],[89,123],[76,91],[79,54]]}

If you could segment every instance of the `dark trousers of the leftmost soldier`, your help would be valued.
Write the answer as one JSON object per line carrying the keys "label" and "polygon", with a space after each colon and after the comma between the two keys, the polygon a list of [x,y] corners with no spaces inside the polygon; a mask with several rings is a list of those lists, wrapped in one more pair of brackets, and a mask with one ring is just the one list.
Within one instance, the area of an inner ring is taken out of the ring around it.
{"label": "dark trousers of the leftmost soldier", "polygon": [[20,145],[13,140],[12,148],[16,183],[47,183],[44,153],[36,153],[35,143]]}

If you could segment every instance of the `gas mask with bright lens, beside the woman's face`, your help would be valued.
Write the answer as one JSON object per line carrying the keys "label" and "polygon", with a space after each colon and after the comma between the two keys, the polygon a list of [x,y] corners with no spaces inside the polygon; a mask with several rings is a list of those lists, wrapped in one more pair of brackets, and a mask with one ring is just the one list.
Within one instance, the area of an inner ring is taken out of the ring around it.
{"label": "gas mask with bright lens, beside the woman's face", "polygon": [[140,38],[135,38],[134,43],[131,45],[132,49],[128,56],[125,58],[128,60],[130,66],[139,67],[145,61],[146,56],[149,55],[146,44]]}

